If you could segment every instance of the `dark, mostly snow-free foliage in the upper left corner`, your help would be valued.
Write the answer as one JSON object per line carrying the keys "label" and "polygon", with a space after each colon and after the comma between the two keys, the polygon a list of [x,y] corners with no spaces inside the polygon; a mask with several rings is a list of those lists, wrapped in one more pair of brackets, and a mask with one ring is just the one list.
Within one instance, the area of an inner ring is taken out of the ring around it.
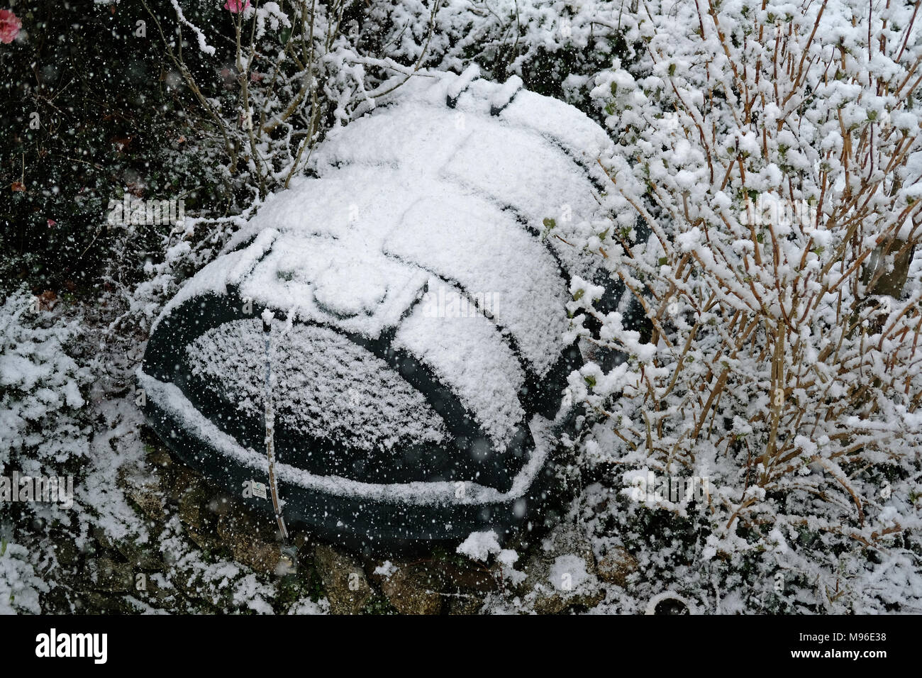
{"label": "dark, mostly snow-free foliage in the upper left corner", "polygon": [[[220,187],[194,159],[197,113],[171,87],[160,37],[149,20],[137,34],[140,4],[41,0],[14,11],[28,36],[0,49],[0,280],[83,289],[110,256],[110,200],[128,191],[195,206]],[[145,228],[136,253],[167,227]]]}

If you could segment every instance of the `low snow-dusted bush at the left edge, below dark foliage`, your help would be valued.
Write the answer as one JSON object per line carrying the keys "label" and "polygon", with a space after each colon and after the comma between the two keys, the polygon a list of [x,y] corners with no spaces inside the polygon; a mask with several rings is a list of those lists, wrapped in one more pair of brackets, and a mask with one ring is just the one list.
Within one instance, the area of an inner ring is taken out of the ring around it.
{"label": "low snow-dusted bush at the left edge, below dark foliage", "polygon": [[[77,325],[62,304],[26,288],[0,304],[0,476],[7,492],[20,489],[17,477],[79,479],[88,463],[92,375],[68,354]],[[46,528],[70,522],[74,499],[74,484],[59,487],[66,492],[61,503],[0,501],[0,614],[41,612],[40,596],[54,586]]]}

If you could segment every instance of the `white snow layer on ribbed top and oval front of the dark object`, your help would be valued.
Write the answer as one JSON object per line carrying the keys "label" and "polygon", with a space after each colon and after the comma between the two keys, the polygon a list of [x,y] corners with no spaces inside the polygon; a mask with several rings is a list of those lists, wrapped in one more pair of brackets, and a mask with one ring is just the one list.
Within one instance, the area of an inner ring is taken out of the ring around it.
{"label": "white snow layer on ribbed top and oval front of the dark object", "polygon": [[[385,98],[387,105],[331,133],[313,154],[319,176],[267,198],[228,245],[240,249],[200,271],[158,322],[195,296],[226,294],[236,286],[243,300],[290,322],[369,339],[396,328],[395,348],[430,366],[502,450],[525,417],[518,401],[523,367],[544,375],[564,347],[567,294],[558,259],[584,272],[587,266],[572,246],[559,238],[542,243],[536,233],[550,217],[565,238],[571,220],[595,213],[595,187],[572,154],[589,141],[591,149],[601,148],[605,135],[572,107],[526,96],[515,80],[501,87],[476,78],[476,68],[463,77],[414,78],[399,96]],[[513,102],[501,115],[490,114],[491,101],[513,94],[526,107]],[[446,97],[457,100],[455,110]],[[488,313],[432,314],[419,303],[427,290],[493,303],[481,309]],[[310,354],[306,345],[286,348],[293,337],[289,332],[279,338],[279,350]],[[393,380],[387,390],[400,403],[375,409],[371,391],[359,383],[380,386],[381,378],[359,366],[354,349],[332,336],[326,341],[325,350],[346,351],[348,360],[338,367],[336,361],[314,363],[301,384],[279,381],[286,396],[304,406],[301,415],[292,408],[292,425],[334,437],[357,425],[357,437],[368,446],[387,448],[408,439],[441,440],[428,408]],[[239,333],[211,331],[190,354],[195,369],[225,379],[251,415],[259,398],[246,376],[250,369],[235,377],[220,356],[250,355],[255,348],[242,343]],[[324,369],[337,378],[325,379]],[[358,420],[338,404],[344,384],[363,394],[352,403],[361,410]],[[299,388],[318,395],[298,398]],[[416,428],[397,432],[397,415],[413,409],[419,417],[408,426]],[[379,416],[383,428],[392,428],[374,434]]]}

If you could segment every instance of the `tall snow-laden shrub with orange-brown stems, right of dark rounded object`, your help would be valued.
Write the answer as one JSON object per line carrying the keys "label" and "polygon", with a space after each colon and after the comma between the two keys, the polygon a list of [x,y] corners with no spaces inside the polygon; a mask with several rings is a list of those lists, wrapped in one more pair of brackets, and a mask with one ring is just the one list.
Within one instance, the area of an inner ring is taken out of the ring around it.
{"label": "tall snow-laden shrub with orange-brown stems, right of dark rounded object", "polygon": [[571,376],[598,422],[585,462],[620,469],[634,498],[648,472],[707,479],[694,505],[640,498],[701,511],[705,559],[767,552],[804,572],[811,542],[808,560],[829,558],[809,571],[825,602],[842,553],[898,553],[920,526],[913,9],[642,6],[627,39],[646,56],[592,92],[617,149],[614,216],[586,246],[643,304],[650,336],[574,280],[573,333],[591,339],[593,316],[591,340],[626,357]]}

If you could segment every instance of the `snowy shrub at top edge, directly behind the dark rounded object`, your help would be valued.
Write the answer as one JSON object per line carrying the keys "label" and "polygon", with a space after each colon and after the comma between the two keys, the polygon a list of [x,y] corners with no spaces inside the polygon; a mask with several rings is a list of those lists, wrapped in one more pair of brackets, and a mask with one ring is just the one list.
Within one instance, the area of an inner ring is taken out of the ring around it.
{"label": "snowy shrub at top edge, directly behind the dark rounded object", "polygon": [[613,57],[634,58],[634,46],[624,41],[629,6],[608,0],[372,2],[361,31],[383,36],[376,44],[389,59],[421,59],[457,73],[476,63],[491,79],[517,75],[527,89],[580,105],[591,77]]}

